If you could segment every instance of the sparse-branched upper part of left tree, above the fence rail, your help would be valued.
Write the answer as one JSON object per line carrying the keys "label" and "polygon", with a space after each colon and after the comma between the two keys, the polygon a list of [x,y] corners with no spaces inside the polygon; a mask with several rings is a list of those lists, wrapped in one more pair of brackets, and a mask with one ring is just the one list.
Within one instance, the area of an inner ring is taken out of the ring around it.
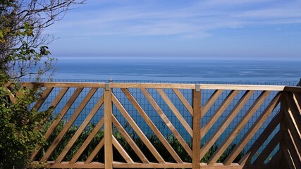
{"label": "sparse-branched upper part of left tree, above the fence rail", "polygon": [[61,20],[70,6],[85,0],[1,0],[0,73],[17,80],[32,75],[51,75],[56,59],[47,44],[53,39],[42,34]]}

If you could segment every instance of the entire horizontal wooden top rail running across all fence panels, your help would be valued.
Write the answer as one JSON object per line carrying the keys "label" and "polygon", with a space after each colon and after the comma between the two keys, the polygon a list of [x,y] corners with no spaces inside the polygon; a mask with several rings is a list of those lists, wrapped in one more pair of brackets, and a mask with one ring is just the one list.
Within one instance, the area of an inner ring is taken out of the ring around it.
{"label": "entire horizontal wooden top rail running across all fence panels", "polygon": [[[8,82],[5,87],[13,84],[21,87],[100,87],[104,82]],[[152,89],[225,89],[225,90],[262,90],[262,91],[290,91],[301,92],[301,87],[288,87],[282,85],[249,85],[249,84],[176,84],[176,83],[114,83],[110,88],[152,88]]]}

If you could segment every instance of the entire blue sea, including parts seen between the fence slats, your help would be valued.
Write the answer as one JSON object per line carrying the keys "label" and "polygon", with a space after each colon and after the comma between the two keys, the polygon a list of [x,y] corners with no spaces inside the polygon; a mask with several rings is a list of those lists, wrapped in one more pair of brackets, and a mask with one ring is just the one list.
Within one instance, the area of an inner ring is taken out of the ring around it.
{"label": "entire blue sea, including parts seen between the fence slats", "polygon": [[[179,82],[179,83],[214,83],[214,84],[279,84],[279,85],[290,85],[296,86],[300,82],[301,78],[301,60],[256,60],[256,59],[204,59],[204,58],[96,58],[96,57],[76,57],[76,58],[59,58],[59,61],[56,63],[56,71],[53,80],[59,82]],[[70,91],[68,97],[72,94],[73,91]],[[84,94],[87,94],[87,91],[84,91]],[[149,118],[152,119],[156,127],[159,128],[160,132],[164,134],[164,137],[168,137],[171,134],[171,130],[168,129],[168,126],[164,121],[159,117],[154,108],[148,103],[145,96],[141,94],[138,89],[131,89],[130,92],[133,94],[137,102],[145,110]],[[171,108],[161,99],[161,96],[156,92],[155,89],[148,89],[148,92],[156,100],[156,103],[159,104],[159,107],[162,111],[168,116],[168,119],[171,120],[171,123],[176,127],[178,132],[183,135],[184,139],[187,142],[191,141],[190,134],[184,129],[183,125],[179,122],[178,118],[171,111]],[[171,91],[171,89],[165,90],[166,94],[176,108],[183,115],[183,118],[191,125],[192,117],[188,113],[188,110],[180,103],[176,95]],[[191,90],[181,90],[183,95],[188,101],[192,102],[192,93]],[[207,99],[213,94],[212,91],[202,91],[202,105],[205,104]],[[231,91],[224,91],[221,94],[220,99],[214,103],[213,106],[209,109],[207,115],[202,118],[201,127],[204,127],[207,124],[211,116],[214,115],[215,111],[219,108],[219,105],[226,99],[228,94]],[[125,106],[125,109],[130,113],[131,117],[141,130],[151,136],[153,134],[152,130],[147,126],[144,120],[132,104],[126,99],[123,92],[120,89],[113,89],[113,93],[121,101],[121,104]],[[220,118],[214,123],[211,129],[204,135],[202,139],[202,144],[205,144],[210,140],[212,134],[216,132],[219,128],[219,125],[223,123],[223,120],[231,112],[232,108],[235,108],[235,104],[238,103],[239,99],[245,91],[240,91],[238,96],[231,102],[230,106],[223,112]],[[247,110],[252,106],[253,102],[257,99],[257,96],[261,94],[261,91],[255,92],[250,100],[245,104],[242,110],[235,116],[235,119],[228,125],[227,129],[221,134],[221,137],[216,141],[216,145],[220,145],[228,134],[235,128],[235,125],[240,121]],[[249,120],[247,125],[242,128],[240,134],[235,137],[235,140],[232,142],[233,145],[238,144],[242,137],[247,133],[247,130],[250,129],[252,124],[257,118],[260,117],[261,113],[264,111],[265,107],[269,104],[269,101],[273,99],[276,92],[271,93],[269,97],[264,101],[262,106],[259,107],[256,113]],[[99,94],[98,94],[99,95]],[[101,95],[99,95],[101,96]],[[97,96],[97,97],[99,97]],[[70,116],[73,115],[74,110],[77,108],[80,100],[84,96],[79,96],[75,104],[71,106],[68,113],[66,113],[64,120],[68,121]],[[64,100],[64,99],[63,99]],[[85,109],[75,120],[75,125],[82,124],[82,121],[85,120],[87,115],[92,110],[92,107],[96,104],[98,99],[92,99],[92,101],[87,104]],[[66,104],[67,99],[61,105],[58,106],[56,113],[59,113],[64,104]],[[50,103],[51,101],[49,101]],[[269,121],[277,114],[279,108],[275,108],[270,117],[266,122],[260,127],[258,132],[254,135],[252,140],[245,146],[244,151],[246,151],[259,137],[259,134],[265,129],[269,124]],[[56,111],[56,110],[55,110]],[[103,109],[97,113],[92,119],[92,123],[96,124],[103,115]],[[125,130],[129,133],[135,133],[128,127],[128,122],[125,120],[123,115],[118,111],[116,106],[113,106],[113,113],[116,118],[121,122]],[[276,130],[271,134],[266,142],[261,146],[259,151],[262,151],[264,147],[269,143],[269,140],[277,132]],[[271,154],[276,153],[278,146],[274,149]]]}

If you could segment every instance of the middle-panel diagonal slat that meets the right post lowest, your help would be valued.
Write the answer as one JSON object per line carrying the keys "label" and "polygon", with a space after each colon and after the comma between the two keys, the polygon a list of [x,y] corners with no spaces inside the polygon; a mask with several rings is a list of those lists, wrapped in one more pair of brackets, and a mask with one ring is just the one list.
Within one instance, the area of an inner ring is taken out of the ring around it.
{"label": "middle-panel diagonal slat that meets the right post lowest", "polygon": [[180,133],[173,126],[173,124],[171,123],[171,121],[168,120],[168,118],[166,117],[166,115],[164,114],[164,112],[161,110],[161,108],[159,107],[159,105],[156,104],[156,101],[154,101],[154,99],[149,94],[149,92],[147,92],[147,89],[140,89],[140,90],[141,90],[142,94],[145,95],[145,97],[147,98],[147,100],[149,101],[149,103],[152,105],[152,107],[155,109],[156,113],[159,114],[159,116],[164,121],[164,123],[169,128],[169,130],[171,130],[171,132],[176,137],[176,139],[178,139],[178,142],[180,142],[180,144],[183,146],[183,148],[188,153],[188,155],[190,157],[192,157],[192,150],[190,149],[190,147],[188,146],[188,144],[185,142],[185,140],[183,139],[183,137],[180,135]]}

